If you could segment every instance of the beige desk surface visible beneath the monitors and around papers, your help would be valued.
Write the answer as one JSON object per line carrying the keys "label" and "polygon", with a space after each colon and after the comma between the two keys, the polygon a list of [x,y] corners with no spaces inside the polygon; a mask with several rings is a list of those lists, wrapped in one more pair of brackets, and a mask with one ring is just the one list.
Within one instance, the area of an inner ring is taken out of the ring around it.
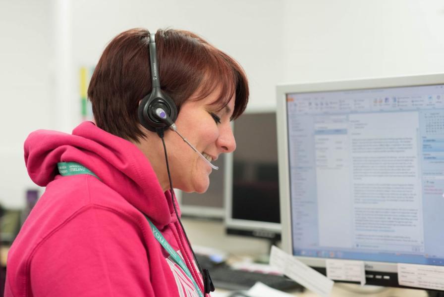
{"label": "beige desk surface visible beneath the monitors and around papers", "polygon": [[[246,255],[256,257],[270,251],[269,243],[265,240],[225,234],[222,221],[183,218],[182,223],[190,242],[193,245],[221,249],[228,252],[234,258]],[[371,292],[374,293],[372,294]],[[299,297],[318,297],[318,295],[308,290],[306,290],[304,293],[295,293],[294,295]],[[217,289],[214,297],[223,296],[227,296],[227,291]],[[336,283],[333,287],[331,296],[427,297],[427,293],[424,290],[379,288],[368,286],[364,286],[362,288],[359,285]]]}

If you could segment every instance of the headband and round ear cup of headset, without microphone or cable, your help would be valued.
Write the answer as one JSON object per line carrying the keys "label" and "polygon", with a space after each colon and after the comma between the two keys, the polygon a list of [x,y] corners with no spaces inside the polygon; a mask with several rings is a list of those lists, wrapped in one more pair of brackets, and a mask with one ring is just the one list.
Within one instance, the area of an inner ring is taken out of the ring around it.
{"label": "headband and round ear cup of headset, without microphone or cable", "polygon": [[[174,125],[177,119],[177,106],[161,89],[155,34],[150,34],[149,51],[152,91],[139,104],[139,122],[150,131],[165,131],[171,125]],[[165,111],[165,115],[161,113],[161,109]]]}

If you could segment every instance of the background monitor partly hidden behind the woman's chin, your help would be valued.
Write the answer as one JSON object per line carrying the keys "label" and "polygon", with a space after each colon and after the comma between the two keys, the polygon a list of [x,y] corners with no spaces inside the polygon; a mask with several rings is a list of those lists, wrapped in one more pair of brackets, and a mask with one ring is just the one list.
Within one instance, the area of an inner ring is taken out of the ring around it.
{"label": "background monitor partly hidden behind the woman's chin", "polygon": [[219,155],[219,158],[212,162],[219,167],[219,170],[213,170],[210,174],[210,186],[204,194],[198,193],[179,193],[180,211],[183,216],[192,216],[199,218],[212,218],[222,220],[225,216],[225,207],[223,203],[223,178],[225,174],[225,154]]}

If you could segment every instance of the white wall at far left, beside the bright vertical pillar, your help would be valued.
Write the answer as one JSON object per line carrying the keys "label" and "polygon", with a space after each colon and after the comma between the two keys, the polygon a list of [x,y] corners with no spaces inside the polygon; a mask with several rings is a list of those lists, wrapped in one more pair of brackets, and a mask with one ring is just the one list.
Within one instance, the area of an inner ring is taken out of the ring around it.
{"label": "white wall at far left, beside the bright vertical pillar", "polygon": [[24,205],[36,188],[23,159],[23,142],[38,128],[52,128],[50,115],[50,1],[0,1],[0,203]]}

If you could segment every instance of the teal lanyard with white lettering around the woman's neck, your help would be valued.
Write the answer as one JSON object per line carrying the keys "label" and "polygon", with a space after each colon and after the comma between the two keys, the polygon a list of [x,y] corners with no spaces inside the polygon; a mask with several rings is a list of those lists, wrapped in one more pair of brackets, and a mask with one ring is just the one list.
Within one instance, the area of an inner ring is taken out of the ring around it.
{"label": "teal lanyard with white lettering around the woman's neck", "polygon": [[[90,174],[92,176],[95,176],[99,179],[97,175],[95,175],[91,170],[84,167],[83,165],[76,163],[76,162],[59,162],[57,163],[58,172],[60,175],[63,176],[69,176],[69,175],[77,175],[77,174]],[[182,270],[185,272],[185,274],[191,279],[193,282],[194,288],[196,289],[196,292],[199,294],[199,297],[203,297],[202,292],[200,291],[199,287],[197,286],[196,282],[194,281],[193,276],[191,275],[190,270],[188,267],[186,267],[185,263],[182,261],[182,258],[180,258],[179,254],[172,248],[162,233],[157,229],[156,226],[151,222],[151,220],[145,215],[145,218],[147,219],[148,223],[150,223],[151,231],[153,231],[154,237],[156,240],[162,245],[162,247],[165,248],[165,250],[169,253],[169,255],[173,258],[173,260],[177,263],[177,265],[182,268]]]}

